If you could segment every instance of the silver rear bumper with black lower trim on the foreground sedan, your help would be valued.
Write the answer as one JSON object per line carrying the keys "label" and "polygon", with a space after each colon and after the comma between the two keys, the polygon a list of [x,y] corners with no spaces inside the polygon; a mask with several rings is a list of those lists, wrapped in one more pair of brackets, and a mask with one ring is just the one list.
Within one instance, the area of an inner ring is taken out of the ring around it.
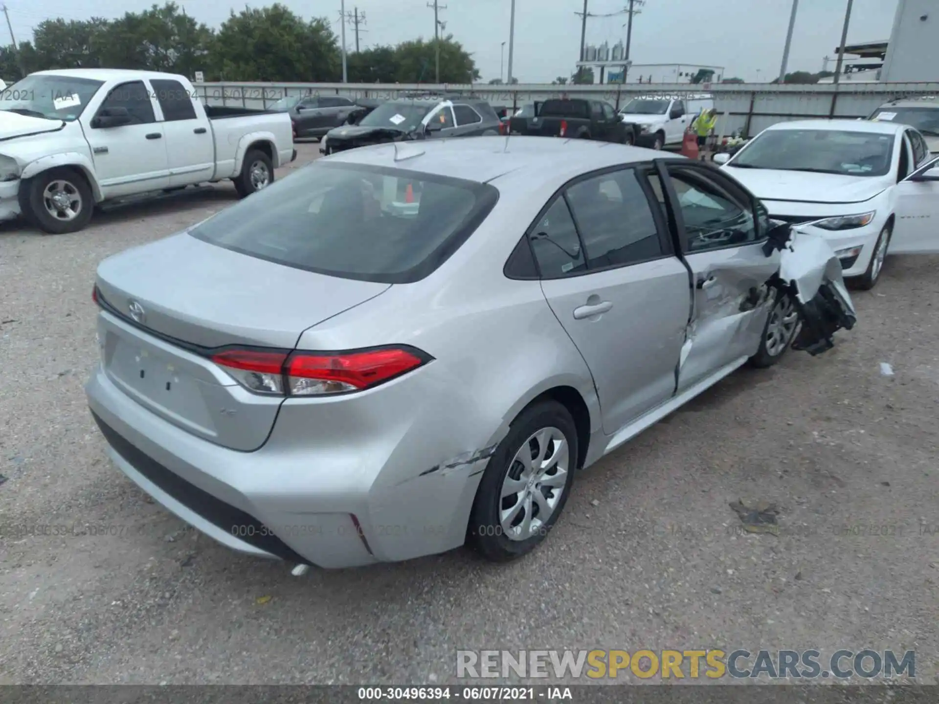
{"label": "silver rear bumper with black lower trim on the foreground sedan", "polygon": [[[459,459],[451,449],[467,440],[443,436],[426,420],[460,427],[433,401],[401,418],[405,399],[413,405],[415,394],[439,388],[430,367],[423,381],[412,375],[410,384],[402,377],[385,385],[387,405],[363,399],[371,417],[358,437],[350,437],[346,414],[362,419],[361,407],[321,409],[324,427],[313,438],[309,408],[286,401],[268,442],[253,452],[162,420],[100,365],[85,392],[117,467],[164,508],[243,553],[345,568],[444,552],[465,540],[485,457],[452,467],[441,461]],[[466,407],[459,413],[472,415]]]}

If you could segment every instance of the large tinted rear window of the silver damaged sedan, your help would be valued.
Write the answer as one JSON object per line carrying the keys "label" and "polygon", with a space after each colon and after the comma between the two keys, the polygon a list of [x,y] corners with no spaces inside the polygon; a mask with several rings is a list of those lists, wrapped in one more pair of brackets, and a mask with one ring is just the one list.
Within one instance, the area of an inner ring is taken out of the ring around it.
{"label": "large tinted rear window of the silver damaged sedan", "polygon": [[446,261],[498,199],[492,186],[448,176],[313,163],[190,235],[287,267],[411,283]]}

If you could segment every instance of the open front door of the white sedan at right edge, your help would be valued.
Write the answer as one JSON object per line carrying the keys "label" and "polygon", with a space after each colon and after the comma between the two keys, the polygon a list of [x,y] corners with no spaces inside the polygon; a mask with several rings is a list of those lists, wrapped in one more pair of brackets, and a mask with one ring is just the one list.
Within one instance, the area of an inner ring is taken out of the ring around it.
{"label": "open front door of the white sedan at right edge", "polygon": [[939,253],[939,160],[897,184],[891,254]]}

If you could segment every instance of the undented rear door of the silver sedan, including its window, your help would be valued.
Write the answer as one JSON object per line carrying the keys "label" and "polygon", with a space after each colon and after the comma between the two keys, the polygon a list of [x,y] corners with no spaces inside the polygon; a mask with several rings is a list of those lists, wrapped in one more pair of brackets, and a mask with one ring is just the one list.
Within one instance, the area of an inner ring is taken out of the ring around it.
{"label": "undented rear door of the silver sedan, including its window", "polygon": [[634,168],[578,179],[528,237],[551,310],[593,374],[608,434],[669,399],[690,298]]}

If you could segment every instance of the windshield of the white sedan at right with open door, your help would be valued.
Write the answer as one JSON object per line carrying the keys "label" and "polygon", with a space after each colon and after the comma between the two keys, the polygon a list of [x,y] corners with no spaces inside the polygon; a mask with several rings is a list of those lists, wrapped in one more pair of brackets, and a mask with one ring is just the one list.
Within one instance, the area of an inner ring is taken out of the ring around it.
{"label": "windshield of the white sedan at right with open door", "polygon": [[845,176],[885,176],[893,161],[892,134],[841,130],[767,130],[728,165],[811,171]]}

